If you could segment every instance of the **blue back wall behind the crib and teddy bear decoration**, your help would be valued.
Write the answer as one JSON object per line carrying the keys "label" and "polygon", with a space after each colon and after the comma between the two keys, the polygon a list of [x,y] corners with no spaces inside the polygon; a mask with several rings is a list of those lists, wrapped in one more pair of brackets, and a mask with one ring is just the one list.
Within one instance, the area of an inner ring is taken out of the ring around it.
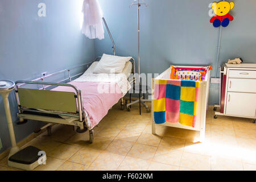
{"label": "blue back wall behind the crib and teddy bear decoration", "polygon": [[[137,7],[132,0],[99,0],[112,31],[117,55],[137,59]],[[219,28],[209,22],[213,0],[146,0],[141,7],[141,72],[162,73],[171,64],[214,65]],[[242,57],[256,63],[256,1],[234,1],[233,22],[222,30],[220,63]],[[96,55],[112,53],[108,36],[96,40]],[[215,71],[212,76],[215,77]],[[218,84],[210,84],[209,104],[218,104]]]}

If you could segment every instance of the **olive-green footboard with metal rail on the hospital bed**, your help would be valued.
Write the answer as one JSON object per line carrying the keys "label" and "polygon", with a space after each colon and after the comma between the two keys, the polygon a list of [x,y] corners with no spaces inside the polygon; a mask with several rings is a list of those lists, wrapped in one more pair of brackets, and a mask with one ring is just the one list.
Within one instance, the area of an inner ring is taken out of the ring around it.
{"label": "olive-green footboard with metal rail on the hospital bed", "polygon": [[[65,113],[75,113],[79,114],[79,119],[82,122],[81,91],[77,89],[76,86],[71,84],[34,81],[16,81],[15,84],[15,97],[18,104],[19,113],[24,107],[30,109],[44,109]],[[18,84],[68,86],[73,88],[75,93],[19,88]]]}

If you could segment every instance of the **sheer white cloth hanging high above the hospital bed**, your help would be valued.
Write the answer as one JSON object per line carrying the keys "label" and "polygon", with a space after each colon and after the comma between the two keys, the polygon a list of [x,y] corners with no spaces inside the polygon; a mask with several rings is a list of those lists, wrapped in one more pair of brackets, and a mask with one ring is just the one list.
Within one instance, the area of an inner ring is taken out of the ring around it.
{"label": "sheer white cloth hanging high above the hospital bed", "polygon": [[84,13],[82,34],[89,39],[104,39],[103,13],[98,0],[84,0],[82,13]]}

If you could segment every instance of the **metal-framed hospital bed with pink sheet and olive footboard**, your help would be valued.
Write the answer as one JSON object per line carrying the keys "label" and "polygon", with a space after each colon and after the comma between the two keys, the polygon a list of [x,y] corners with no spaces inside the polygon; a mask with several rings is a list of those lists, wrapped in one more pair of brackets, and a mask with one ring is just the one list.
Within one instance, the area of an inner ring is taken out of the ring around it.
{"label": "metal-framed hospital bed with pink sheet and olive footboard", "polygon": [[[95,76],[92,70],[100,58],[97,57],[91,63],[64,69],[50,75],[44,73],[42,77],[32,81],[16,81],[15,97],[19,110],[17,114],[19,124],[26,123],[28,119],[46,122],[48,124],[44,128],[47,128],[48,134],[51,133],[51,125],[54,123],[72,125],[77,133],[84,133],[89,130],[89,141],[92,143],[93,128],[108,113],[108,110],[120,99],[121,109],[125,107],[123,102],[125,93],[114,92],[108,94],[96,92],[96,83],[88,80],[90,77]],[[85,71],[84,67],[88,69]],[[82,72],[72,76],[72,70],[74,69],[80,69]],[[68,74],[68,78],[57,82],[45,81],[61,73]],[[126,78],[127,85],[135,82],[135,63],[133,58],[126,63],[123,73],[121,75]],[[76,80],[73,80],[74,78]],[[98,84],[106,85],[111,84],[111,82],[98,82]],[[130,87],[126,91],[129,89]],[[106,101],[102,101],[103,99],[106,99]],[[93,107],[97,108],[93,110]],[[105,112],[100,111],[98,107],[100,109],[103,108]],[[95,119],[93,116],[97,118]]]}

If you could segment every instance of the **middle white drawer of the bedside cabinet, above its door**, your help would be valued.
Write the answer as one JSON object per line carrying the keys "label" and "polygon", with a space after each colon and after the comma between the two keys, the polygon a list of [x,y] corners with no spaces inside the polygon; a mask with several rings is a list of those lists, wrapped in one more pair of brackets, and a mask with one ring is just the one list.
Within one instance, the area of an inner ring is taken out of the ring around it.
{"label": "middle white drawer of the bedside cabinet, above its door", "polygon": [[229,78],[228,92],[256,93],[256,79]]}

